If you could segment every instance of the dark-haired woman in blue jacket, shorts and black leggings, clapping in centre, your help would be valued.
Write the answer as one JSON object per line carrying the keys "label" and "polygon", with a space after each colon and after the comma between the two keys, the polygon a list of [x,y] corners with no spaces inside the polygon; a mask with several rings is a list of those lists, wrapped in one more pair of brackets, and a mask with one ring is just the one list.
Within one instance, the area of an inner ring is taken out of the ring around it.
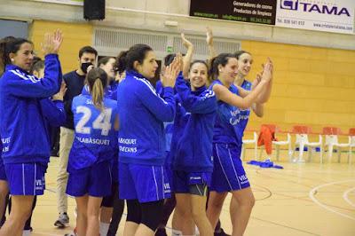
{"label": "dark-haired woman in blue jacket, shorts and black leggings, clapping in centre", "polygon": [[154,235],[162,216],[163,201],[170,197],[164,159],[163,122],[175,116],[173,87],[181,65],[177,60],[164,72],[162,98],[150,80],[158,64],[146,44],[130,47],[126,77],[117,90],[120,198],[127,200],[123,235]]}

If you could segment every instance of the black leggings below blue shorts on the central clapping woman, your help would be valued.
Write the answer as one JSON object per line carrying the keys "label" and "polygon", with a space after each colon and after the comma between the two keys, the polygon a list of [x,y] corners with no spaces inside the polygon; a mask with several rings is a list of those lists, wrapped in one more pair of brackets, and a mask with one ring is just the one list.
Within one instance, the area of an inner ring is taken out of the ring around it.
{"label": "black leggings below blue shorts on the central clapping woman", "polygon": [[162,219],[164,200],[140,203],[138,200],[127,201],[127,221],[145,224],[155,232]]}

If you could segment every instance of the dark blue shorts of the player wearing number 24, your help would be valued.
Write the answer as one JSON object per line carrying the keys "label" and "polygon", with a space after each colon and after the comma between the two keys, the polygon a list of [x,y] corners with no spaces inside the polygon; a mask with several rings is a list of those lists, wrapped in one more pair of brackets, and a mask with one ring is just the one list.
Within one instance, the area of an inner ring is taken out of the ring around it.
{"label": "dark blue shorts of the player wearing number 24", "polygon": [[67,194],[73,197],[105,197],[111,194],[112,175],[110,161],[103,161],[89,168],[69,172]]}

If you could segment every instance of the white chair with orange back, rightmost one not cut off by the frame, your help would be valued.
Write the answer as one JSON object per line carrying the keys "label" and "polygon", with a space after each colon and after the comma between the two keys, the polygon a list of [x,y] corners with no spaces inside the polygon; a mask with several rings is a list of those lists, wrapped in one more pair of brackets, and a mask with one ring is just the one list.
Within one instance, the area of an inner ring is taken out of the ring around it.
{"label": "white chair with orange back, rightmost one not cut off by the frame", "polygon": [[[325,146],[327,146],[327,161],[332,161],[333,150],[334,148],[337,149],[338,153],[338,162],[340,163],[342,157],[342,148],[351,148],[351,137],[348,138],[348,143],[339,143],[338,142],[338,135],[340,135],[342,131],[336,127],[325,127],[323,128],[323,134],[325,135]],[[348,161],[350,161],[350,153],[348,154]]]}

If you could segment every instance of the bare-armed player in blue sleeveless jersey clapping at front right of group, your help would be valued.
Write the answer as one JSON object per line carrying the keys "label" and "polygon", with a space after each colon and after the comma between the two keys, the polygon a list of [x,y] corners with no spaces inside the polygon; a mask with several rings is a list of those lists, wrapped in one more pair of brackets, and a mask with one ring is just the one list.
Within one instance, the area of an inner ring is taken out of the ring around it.
{"label": "bare-armed player in blue sleeveless jersey clapping at front right of group", "polygon": [[240,143],[240,109],[246,109],[260,99],[259,96],[271,79],[271,71],[272,63],[269,61],[260,83],[254,90],[247,92],[233,85],[238,73],[235,55],[222,53],[212,60],[211,74],[215,81],[211,89],[217,95],[218,109],[213,137],[214,170],[207,213],[212,227],[215,227],[225,197],[228,192],[232,192],[233,198],[240,202],[237,214],[241,222],[238,226],[233,224],[233,235],[242,235],[244,232],[255,201],[237,147]]}

